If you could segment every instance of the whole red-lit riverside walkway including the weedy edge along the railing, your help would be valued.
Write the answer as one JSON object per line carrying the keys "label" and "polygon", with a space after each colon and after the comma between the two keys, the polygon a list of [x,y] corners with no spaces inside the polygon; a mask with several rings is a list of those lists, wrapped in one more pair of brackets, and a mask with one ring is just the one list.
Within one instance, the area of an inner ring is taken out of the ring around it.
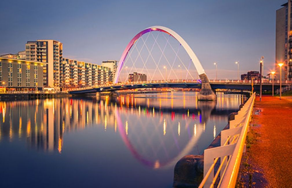
{"label": "whole red-lit riverside walkway including the weedy edge along the railing", "polygon": [[256,98],[237,187],[292,187],[292,97]]}

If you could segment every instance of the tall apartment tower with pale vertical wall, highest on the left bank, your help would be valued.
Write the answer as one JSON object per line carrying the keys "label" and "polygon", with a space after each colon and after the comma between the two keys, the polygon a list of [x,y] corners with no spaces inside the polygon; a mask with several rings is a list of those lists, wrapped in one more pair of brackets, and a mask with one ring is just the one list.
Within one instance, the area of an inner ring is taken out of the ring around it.
{"label": "tall apartment tower with pale vertical wall, highest on the left bank", "polygon": [[[25,44],[26,60],[47,63],[44,66],[44,86],[60,88],[62,85],[63,44],[55,40],[28,41]],[[64,67],[65,69],[65,67]],[[61,75],[61,76],[60,76]]]}

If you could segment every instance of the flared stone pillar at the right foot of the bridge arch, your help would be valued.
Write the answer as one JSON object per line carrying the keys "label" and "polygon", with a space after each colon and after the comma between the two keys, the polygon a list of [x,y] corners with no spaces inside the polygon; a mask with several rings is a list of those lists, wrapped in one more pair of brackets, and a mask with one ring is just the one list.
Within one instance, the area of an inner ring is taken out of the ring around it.
{"label": "flared stone pillar at the right foot of the bridge arch", "polygon": [[202,87],[198,94],[198,100],[216,100],[216,94],[211,88],[207,75],[204,73],[199,76],[202,81]]}

